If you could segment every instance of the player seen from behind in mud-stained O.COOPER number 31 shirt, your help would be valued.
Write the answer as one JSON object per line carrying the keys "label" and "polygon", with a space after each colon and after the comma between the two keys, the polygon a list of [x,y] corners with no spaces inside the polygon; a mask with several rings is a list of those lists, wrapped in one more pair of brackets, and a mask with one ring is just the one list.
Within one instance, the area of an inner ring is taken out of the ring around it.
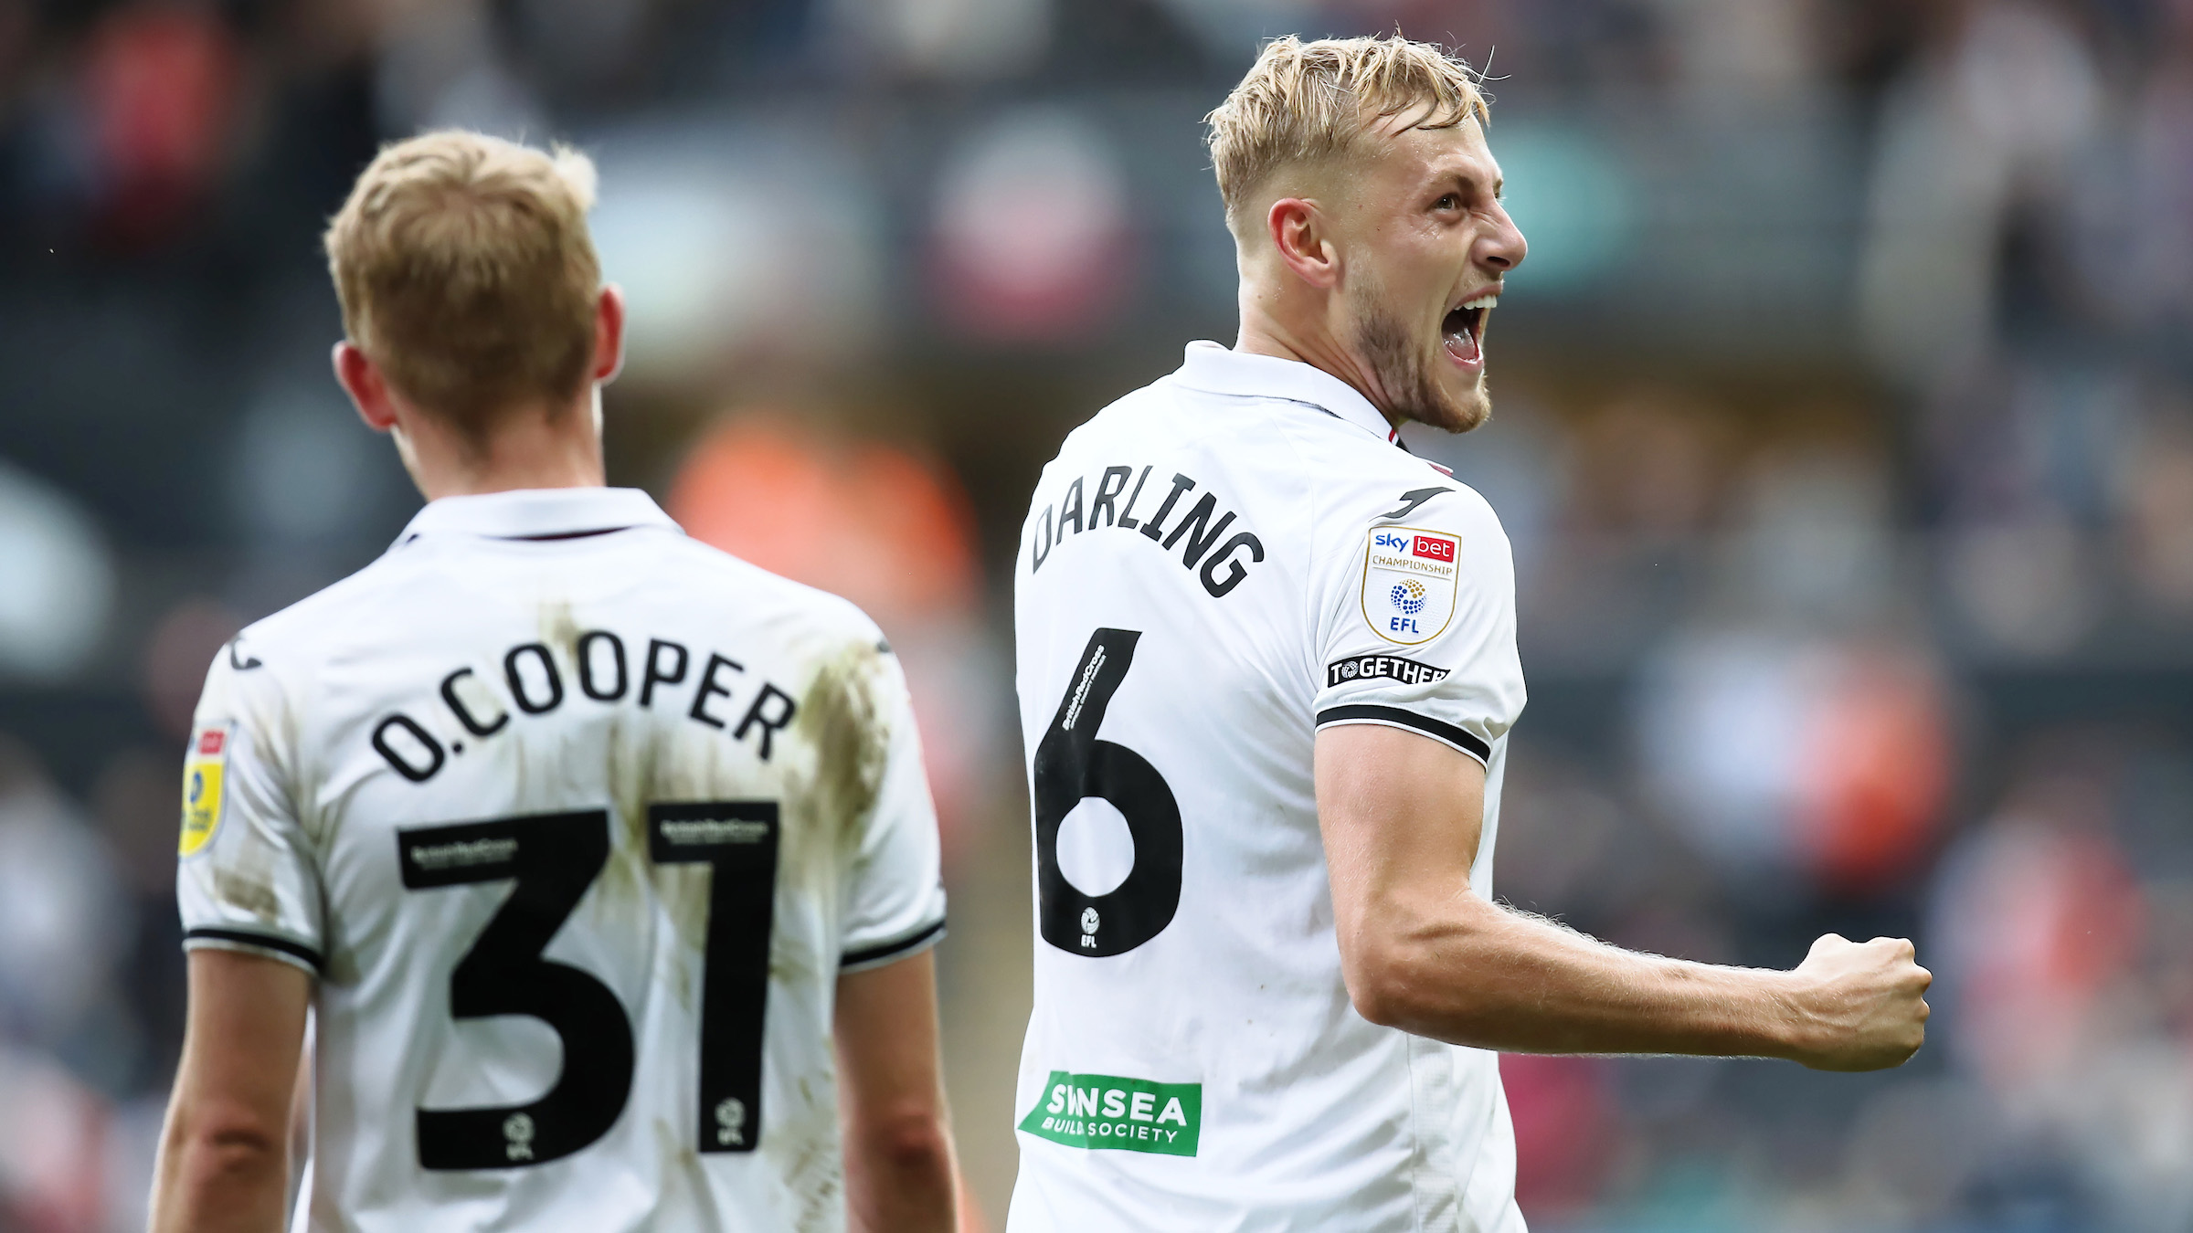
{"label": "player seen from behind in mud-stained O.COOPER number 31 shirt", "polygon": [[849,603],[603,487],[594,171],[390,145],[336,375],[428,507],[213,663],[160,1233],[954,1226],[936,823]]}

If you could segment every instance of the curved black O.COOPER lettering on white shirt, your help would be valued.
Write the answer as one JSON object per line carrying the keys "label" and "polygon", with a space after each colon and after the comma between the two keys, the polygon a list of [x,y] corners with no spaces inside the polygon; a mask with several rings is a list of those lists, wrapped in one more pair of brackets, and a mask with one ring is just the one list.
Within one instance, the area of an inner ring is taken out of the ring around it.
{"label": "curved black O.COOPER lettering on white shirt", "polygon": [[[746,695],[746,665],[739,660],[708,652],[706,660],[695,667],[700,654],[669,638],[647,638],[643,656],[627,656],[625,638],[610,630],[590,630],[572,641],[568,656],[577,693],[592,702],[625,702],[629,698],[636,706],[651,711],[658,698],[669,700],[673,691],[682,691],[691,682],[691,698],[671,704],[682,706],[695,724],[726,728],[730,739],[754,746],[761,761],[770,761],[776,733],[792,726],[792,715],[798,713],[792,693],[768,680],[754,682],[752,693]],[[564,658],[546,643],[509,647],[502,654],[498,676],[502,693],[469,665],[443,674],[434,693],[445,717],[425,711],[430,722],[414,720],[406,711],[384,715],[373,726],[373,750],[404,779],[425,783],[441,774],[452,757],[465,753],[467,739],[493,739],[511,726],[513,715],[550,715],[570,695],[564,685]],[[732,724],[732,715],[737,715],[737,724]],[[447,720],[454,720],[461,733],[452,731]],[[450,735],[447,744],[436,731]]]}

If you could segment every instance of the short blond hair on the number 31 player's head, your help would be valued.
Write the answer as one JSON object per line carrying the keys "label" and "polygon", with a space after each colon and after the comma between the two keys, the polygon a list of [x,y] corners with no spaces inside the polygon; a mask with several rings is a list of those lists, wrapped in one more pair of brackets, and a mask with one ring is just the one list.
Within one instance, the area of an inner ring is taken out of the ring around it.
{"label": "short blond hair on the number 31 player's head", "polygon": [[447,129],[384,145],[327,226],[342,329],[474,445],[570,401],[594,355],[594,165]]}

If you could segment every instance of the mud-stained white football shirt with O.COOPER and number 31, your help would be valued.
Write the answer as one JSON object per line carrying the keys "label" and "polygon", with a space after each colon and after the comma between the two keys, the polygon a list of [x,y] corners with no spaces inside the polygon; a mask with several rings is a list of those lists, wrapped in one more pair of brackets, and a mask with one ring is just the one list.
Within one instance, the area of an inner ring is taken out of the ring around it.
{"label": "mud-stained white football shirt with O.COOPER and number 31", "polygon": [[897,660],[634,489],[428,505],[259,621],[184,946],[318,976],[311,1229],[840,1229],[840,972],[943,930]]}

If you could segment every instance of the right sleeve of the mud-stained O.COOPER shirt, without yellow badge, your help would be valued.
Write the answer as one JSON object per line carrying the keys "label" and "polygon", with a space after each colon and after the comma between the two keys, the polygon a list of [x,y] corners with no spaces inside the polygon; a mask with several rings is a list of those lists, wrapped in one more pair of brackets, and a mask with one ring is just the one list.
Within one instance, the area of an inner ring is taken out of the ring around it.
{"label": "right sleeve of the mud-stained O.COOPER shirt, without yellow badge", "polygon": [[936,805],[921,770],[921,735],[899,658],[871,660],[868,695],[884,728],[875,807],[853,853],[840,972],[882,968],[943,939]]}

